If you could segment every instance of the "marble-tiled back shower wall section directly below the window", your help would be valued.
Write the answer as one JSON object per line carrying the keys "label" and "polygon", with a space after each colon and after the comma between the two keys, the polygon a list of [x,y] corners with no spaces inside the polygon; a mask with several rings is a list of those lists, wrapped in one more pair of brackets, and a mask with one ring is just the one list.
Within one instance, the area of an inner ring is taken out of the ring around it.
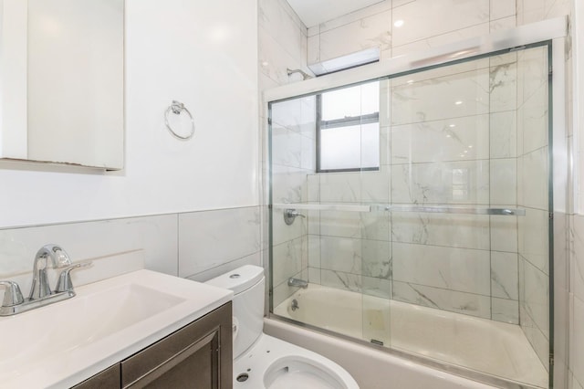
{"label": "marble-tiled back shower wall section directly below the window", "polygon": [[[381,166],[380,172],[311,175],[308,186],[311,202],[389,202],[386,166]],[[391,298],[389,215],[314,211],[308,223],[311,282]]]}

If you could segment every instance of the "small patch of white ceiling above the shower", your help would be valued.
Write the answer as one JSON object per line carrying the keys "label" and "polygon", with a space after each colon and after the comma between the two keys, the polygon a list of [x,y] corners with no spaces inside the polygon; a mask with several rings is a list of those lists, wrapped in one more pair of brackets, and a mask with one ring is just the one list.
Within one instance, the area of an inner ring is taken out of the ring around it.
{"label": "small patch of white ceiling above the shower", "polygon": [[317,26],[336,17],[350,14],[380,0],[287,0],[305,26]]}

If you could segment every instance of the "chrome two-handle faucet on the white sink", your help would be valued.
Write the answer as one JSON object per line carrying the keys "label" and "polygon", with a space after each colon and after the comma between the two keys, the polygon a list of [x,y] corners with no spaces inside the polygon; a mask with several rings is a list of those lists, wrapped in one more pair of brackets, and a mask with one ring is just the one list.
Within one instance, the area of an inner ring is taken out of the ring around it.
{"label": "chrome two-handle faucet on the white sink", "polygon": [[[57,288],[51,291],[47,279],[47,267],[64,268],[58,277]],[[71,283],[70,272],[74,268],[91,265],[91,262],[71,264],[71,259],[65,250],[57,245],[45,245],[36,252],[33,264],[33,282],[30,294],[23,299],[18,284],[14,281],[0,281],[0,287],[5,288],[4,300],[0,306],[0,316],[15,315],[16,313],[33,310],[52,304],[57,301],[75,297],[75,290]]]}

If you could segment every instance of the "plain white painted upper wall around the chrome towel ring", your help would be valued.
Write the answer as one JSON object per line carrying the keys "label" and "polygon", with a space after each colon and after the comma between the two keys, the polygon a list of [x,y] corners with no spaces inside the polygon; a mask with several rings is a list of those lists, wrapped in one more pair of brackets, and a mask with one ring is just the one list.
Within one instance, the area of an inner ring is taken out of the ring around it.
{"label": "plain white painted upper wall around the chrome towel ring", "polygon": [[[128,0],[126,12],[125,169],[3,163],[0,227],[258,205],[255,1]],[[190,142],[164,127],[172,100],[193,113]]]}

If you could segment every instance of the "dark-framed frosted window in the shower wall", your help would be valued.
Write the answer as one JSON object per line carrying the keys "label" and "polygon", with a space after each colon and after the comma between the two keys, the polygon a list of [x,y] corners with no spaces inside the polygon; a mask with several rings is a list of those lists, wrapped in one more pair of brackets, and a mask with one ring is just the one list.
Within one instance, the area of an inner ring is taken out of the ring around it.
{"label": "dark-framed frosted window in the shower wall", "polygon": [[380,168],[380,83],[317,96],[318,172]]}

